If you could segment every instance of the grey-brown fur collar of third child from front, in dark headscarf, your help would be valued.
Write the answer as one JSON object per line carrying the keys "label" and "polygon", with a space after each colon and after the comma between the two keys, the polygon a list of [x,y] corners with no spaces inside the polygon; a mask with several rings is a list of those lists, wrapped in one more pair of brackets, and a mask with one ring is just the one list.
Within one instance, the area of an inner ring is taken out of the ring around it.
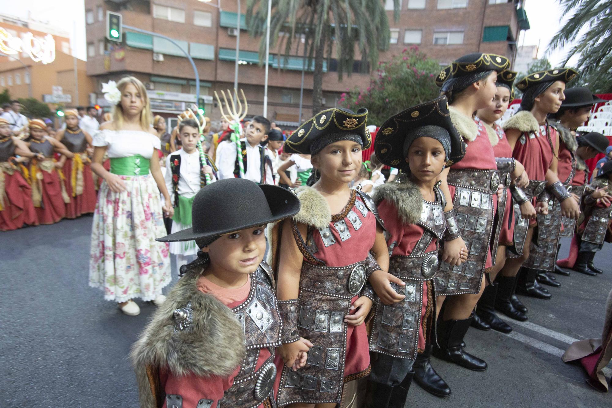
{"label": "grey-brown fur collar of third child from front, in dark headscarf", "polygon": [[385,183],[376,189],[373,197],[376,205],[386,200],[395,206],[402,224],[416,224],[423,208],[423,195],[412,181],[402,179],[401,183]]}

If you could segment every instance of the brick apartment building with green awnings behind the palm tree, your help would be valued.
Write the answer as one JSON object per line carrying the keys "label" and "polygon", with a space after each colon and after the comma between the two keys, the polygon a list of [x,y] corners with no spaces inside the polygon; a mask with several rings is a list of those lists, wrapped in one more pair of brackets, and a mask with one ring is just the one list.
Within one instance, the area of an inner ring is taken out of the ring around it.
{"label": "brick apartment building with green awnings behind the palm tree", "polygon": [[[393,0],[381,1],[387,9],[393,4]],[[248,34],[244,15],[247,1],[241,1],[241,15],[237,13],[238,6],[237,0],[85,0],[88,75],[95,79],[96,89],[124,75],[138,77],[147,87],[154,113],[167,118],[176,118],[185,106],[196,102],[192,66],[172,43],[129,30],[124,31],[122,43],[105,39],[106,10],[120,12],[124,25],[171,37],[188,50],[200,75],[206,115],[218,119],[220,110],[213,94],[233,88],[239,31],[239,88],[244,89],[248,99],[249,115],[261,114],[264,69],[258,64],[260,39]],[[406,44],[419,45],[441,64],[476,51],[499,53],[511,59],[514,56],[514,42],[520,31],[520,1],[400,0],[400,6],[398,21],[394,20],[392,7],[388,11],[392,37],[389,51],[381,54],[382,60],[392,58]],[[267,115],[291,126],[300,119],[303,59],[295,55],[285,61],[277,50],[270,52]],[[334,60],[326,61],[324,71],[324,107],[337,105],[346,89],[364,88],[369,83],[369,75],[359,74],[357,69],[351,77],[345,75],[338,81]],[[312,82],[312,71],[307,68],[302,119],[308,118],[312,110]],[[98,102],[105,104],[100,93]]]}

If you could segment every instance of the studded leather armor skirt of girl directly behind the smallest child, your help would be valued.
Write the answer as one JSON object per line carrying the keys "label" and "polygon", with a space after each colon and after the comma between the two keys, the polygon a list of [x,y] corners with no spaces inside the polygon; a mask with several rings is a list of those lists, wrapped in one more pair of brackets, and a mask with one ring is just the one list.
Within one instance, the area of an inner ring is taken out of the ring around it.
{"label": "studded leather armor skirt of girl directly behind the smallest child", "polygon": [[345,315],[366,279],[366,262],[332,267],[305,262],[300,274],[300,336],[310,340],[304,368],[283,367],[278,406],[293,402],[340,402],[345,372]]}

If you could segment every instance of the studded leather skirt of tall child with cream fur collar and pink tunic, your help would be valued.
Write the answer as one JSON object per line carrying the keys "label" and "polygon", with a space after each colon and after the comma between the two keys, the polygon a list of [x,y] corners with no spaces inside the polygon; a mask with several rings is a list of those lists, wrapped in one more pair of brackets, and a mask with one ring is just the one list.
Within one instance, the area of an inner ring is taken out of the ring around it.
{"label": "studded leather skirt of tall child with cream fur collar and pink tunic", "polygon": [[447,181],[455,187],[455,219],[468,247],[468,259],[452,268],[449,263],[440,263],[436,295],[478,293],[493,233],[493,194],[499,186],[499,172],[451,168]]}

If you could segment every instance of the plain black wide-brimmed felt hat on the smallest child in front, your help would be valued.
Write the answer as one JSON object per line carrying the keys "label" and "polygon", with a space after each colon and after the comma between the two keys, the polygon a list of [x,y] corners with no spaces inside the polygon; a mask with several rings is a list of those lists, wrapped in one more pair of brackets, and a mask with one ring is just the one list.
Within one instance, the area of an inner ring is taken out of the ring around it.
{"label": "plain black wide-brimmed felt hat on the smallest child in front", "polygon": [[230,232],[265,225],[293,216],[300,202],[283,187],[244,178],[226,178],[204,186],[192,205],[192,228],[157,238],[156,241],[214,240]]}

